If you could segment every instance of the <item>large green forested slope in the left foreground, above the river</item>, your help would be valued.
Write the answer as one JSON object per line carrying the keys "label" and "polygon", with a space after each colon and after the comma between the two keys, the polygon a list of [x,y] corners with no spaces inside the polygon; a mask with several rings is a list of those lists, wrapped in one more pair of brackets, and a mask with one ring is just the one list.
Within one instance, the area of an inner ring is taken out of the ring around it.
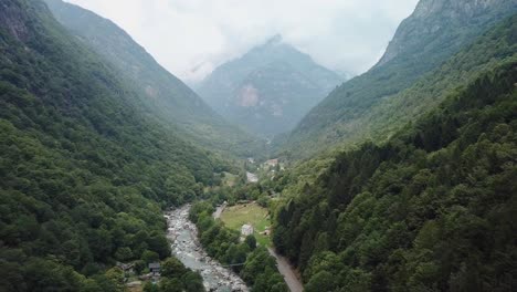
{"label": "large green forested slope in the left foreground, above the river", "polygon": [[0,1],[0,290],[120,291],[106,269],[168,257],[160,207],[223,165],[146,117],[42,1]]}

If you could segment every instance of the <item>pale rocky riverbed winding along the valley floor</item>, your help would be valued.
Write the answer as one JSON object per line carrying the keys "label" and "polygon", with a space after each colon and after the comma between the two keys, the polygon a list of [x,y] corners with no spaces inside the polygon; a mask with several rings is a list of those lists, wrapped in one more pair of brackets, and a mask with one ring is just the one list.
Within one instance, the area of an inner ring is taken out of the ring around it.
{"label": "pale rocky riverbed winding along the valley floor", "polygon": [[190,205],[166,212],[168,232],[172,242],[172,253],[186,267],[199,271],[207,291],[249,291],[244,281],[230,269],[211,259],[198,240],[198,230],[189,220]]}

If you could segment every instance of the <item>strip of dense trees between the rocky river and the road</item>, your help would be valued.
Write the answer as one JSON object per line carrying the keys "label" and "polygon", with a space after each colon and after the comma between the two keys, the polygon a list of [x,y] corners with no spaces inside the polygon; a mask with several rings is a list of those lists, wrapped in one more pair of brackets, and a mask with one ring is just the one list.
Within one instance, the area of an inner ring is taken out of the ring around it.
{"label": "strip of dense trees between the rocky river and the road", "polygon": [[265,247],[257,247],[254,236],[240,242],[240,234],[212,218],[214,208],[209,201],[197,202],[190,209],[189,218],[199,230],[199,238],[207,253],[233,271],[250,285],[254,292],[286,292],[284,278],[276,270],[276,261]]}

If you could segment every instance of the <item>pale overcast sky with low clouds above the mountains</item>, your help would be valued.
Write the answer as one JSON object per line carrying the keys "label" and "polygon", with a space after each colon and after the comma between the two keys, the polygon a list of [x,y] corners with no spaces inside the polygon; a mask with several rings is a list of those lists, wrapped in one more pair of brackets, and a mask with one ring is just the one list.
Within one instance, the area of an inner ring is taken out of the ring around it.
{"label": "pale overcast sky with low clouds above the mountains", "polygon": [[418,0],[66,0],[108,18],[186,82],[274,34],[358,74],[382,55]]}

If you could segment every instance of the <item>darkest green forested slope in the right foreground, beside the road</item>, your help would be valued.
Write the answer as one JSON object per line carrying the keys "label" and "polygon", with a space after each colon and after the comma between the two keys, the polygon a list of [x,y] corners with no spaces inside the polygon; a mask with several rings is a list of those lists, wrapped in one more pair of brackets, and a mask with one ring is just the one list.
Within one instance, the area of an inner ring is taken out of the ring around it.
{"label": "darkest green forested slope in the right foreground, beside the road", "polygon": [[307,292],[514,290],[516,32],[517,15],[464,51],[507,53],[387,143],[284,191],[274,243]]}

